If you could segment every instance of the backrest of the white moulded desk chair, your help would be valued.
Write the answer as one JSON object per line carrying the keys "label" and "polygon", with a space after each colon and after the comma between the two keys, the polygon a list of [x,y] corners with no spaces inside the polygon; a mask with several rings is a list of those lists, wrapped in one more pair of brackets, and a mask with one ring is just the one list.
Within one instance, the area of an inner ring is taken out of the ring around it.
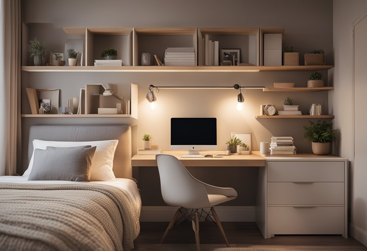
{"label": "backrest of the white moulded desk chair", "polygon": [[210,207],[204,185],[172,155],[156,155],[164,202],[175,207]]}

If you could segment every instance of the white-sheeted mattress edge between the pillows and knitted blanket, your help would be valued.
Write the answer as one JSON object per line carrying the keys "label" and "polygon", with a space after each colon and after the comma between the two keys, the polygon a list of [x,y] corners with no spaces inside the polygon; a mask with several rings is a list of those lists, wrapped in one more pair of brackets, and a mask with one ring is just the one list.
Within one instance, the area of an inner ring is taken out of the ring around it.
{"label": "white-sheeted mattress edge between the pillows and knitted blanket", "polygon": [[0,176],[0,182],[24,183],[24,184],[104,184],[114,186],[122,190],[136,209],[141,209],[141,199],[137,185],[131,179],[116,178],[116,181],[91,181],[91,182],[75,182],[75,181],[28,181],[23,176]]}

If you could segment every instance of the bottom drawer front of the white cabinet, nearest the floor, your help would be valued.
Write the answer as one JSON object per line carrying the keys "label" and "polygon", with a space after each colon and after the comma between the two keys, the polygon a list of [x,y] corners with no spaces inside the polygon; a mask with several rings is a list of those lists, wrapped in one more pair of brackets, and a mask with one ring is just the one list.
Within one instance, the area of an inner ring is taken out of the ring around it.
{"label": "bottom drawer front of the white cabinet, nearest the floor", "polygon": [[271,234],[344,234],[344,207],[268,207]]}

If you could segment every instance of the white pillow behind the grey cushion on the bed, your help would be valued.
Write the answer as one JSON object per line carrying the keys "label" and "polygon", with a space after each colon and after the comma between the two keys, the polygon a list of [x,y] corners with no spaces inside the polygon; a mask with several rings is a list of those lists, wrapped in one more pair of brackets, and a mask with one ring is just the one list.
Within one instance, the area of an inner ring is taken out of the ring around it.
{"label": "white pillow behind the grey cushion on the bed", "polygon": [[83,141],[83,142],[71,142],[71,141],[43,141],[39,139],[33,140],[33,153],[30,159],[28,169],[24,172],[24,177],[29,177],[30,171],[33,167],[34,149],[39,148],[46,150],[47,146],[53,147],[72,147],[72,146],[97,146],[95,150],[92,166],[91,166],[91,181],[115,181],[116,177],[113,174],[113,156],[115,155],[115,150],[117,143],[119,141],[115,140],[105,140],[105,141]]}

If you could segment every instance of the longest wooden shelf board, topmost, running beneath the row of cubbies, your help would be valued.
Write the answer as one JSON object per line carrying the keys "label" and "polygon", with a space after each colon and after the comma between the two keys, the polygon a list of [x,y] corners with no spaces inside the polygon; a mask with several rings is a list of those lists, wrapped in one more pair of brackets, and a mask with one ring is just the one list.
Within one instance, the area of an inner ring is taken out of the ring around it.
{"label": "longest wooden shelf board, topmost, running beneath the row of cubbies", "polygon": [[[22,66],[21,69],[26,72],[297,72],[297,71],[328,70],[333,67],[334,65],[310,65],[310,66]],[[277,89],[283,89],[283,88],[277,88]]]}

